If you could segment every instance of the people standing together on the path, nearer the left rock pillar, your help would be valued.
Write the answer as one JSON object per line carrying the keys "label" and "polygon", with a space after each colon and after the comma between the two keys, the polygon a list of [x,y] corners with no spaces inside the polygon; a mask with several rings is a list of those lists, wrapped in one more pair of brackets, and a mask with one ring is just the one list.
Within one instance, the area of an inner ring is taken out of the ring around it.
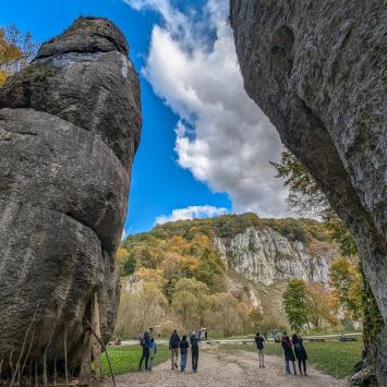
{"label": "people standing together on the path, nearer the left rock pillar", "polygon": [[[157,354],[157,343],[154,339],[153,328],[146,330],[140,337],[140,344],[143,348],[142,356],[140,359],[138,371],[143,370],[143,363],[145,371],[152,372],[154,366],[155,356]],[[199,332],[193,331],[190,336],[190,341],[186,335],[181,338],[177,330],[173,330],[171,337],[169,338],[169,350],[171,351],[171,367],[172,370],[178,370],[179,363],[179,352],[180,352],[180,371],[184,372],[186,368],[189,348],[191,347],[191,358],[192,358],[192,371],[197,372],[198,363],[198,341],[202,337]]]}

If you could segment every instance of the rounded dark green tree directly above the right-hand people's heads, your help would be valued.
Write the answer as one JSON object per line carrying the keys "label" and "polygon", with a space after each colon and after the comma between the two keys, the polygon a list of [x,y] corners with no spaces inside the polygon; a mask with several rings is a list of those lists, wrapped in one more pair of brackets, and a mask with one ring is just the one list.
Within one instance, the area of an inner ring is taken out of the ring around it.
{"label": "rounded dark green tree directly above the right-hand people's heads", "polygon": [[291,279],[283,293],[282,304],[291,328],[295,331],[307,324],[306,283],[302,279]]}

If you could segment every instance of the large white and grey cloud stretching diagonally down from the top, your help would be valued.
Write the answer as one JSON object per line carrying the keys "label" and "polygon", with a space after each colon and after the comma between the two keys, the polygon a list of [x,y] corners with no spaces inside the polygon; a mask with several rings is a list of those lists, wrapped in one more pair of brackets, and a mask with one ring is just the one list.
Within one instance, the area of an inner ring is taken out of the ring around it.
{"label": "large white and grey cloud stretching diagonally down from the top", "polygon": [[142,73],[180,117],[178,164],[213,191],[227,192],[233,211],[289,216],[288,191],[268,162],[279,159],[282,145],[243,88],[228,1],[208,0],[203,10],[184,12],[170,0],[125,2],[162,19],[153,27]]}

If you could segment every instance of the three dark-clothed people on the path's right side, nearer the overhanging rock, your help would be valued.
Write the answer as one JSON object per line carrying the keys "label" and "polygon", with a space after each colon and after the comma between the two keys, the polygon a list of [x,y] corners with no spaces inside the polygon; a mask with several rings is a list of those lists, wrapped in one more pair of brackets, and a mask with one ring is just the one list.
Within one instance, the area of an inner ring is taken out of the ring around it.
{"label": "three dark-clothed people on the path's right side, nearer the overhanging rock", "polygon": [[[293,334],[292,338],[290,339],[287,331],[282,332],[282,336],[279,340],[283,350],[285,371],[288,375],[291,374],[290,363],[292,363],[294,375],[297,375],[297,371],[295,371],[295,359],[297,359],[299,362],[300,375],[307,376],[306,373],[307,353],[302,341],[303,341],[302,337],[297,334]],[[265,367],[264,342],[265,342],[265,337],[257,331],[255,335],[255,344],[258,352],[259,368]]]}

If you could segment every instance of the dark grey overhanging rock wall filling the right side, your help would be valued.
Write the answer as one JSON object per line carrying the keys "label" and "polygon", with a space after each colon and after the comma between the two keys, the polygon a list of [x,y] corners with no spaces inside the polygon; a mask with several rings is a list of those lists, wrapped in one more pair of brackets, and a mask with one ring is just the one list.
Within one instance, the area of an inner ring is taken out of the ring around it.
{"label": "dark grey overhanging rock wall filling the right side", "polygon": [[247,94],[356,239],[385,324],[368,365],[386,386],[386,2],[230,2]]}

